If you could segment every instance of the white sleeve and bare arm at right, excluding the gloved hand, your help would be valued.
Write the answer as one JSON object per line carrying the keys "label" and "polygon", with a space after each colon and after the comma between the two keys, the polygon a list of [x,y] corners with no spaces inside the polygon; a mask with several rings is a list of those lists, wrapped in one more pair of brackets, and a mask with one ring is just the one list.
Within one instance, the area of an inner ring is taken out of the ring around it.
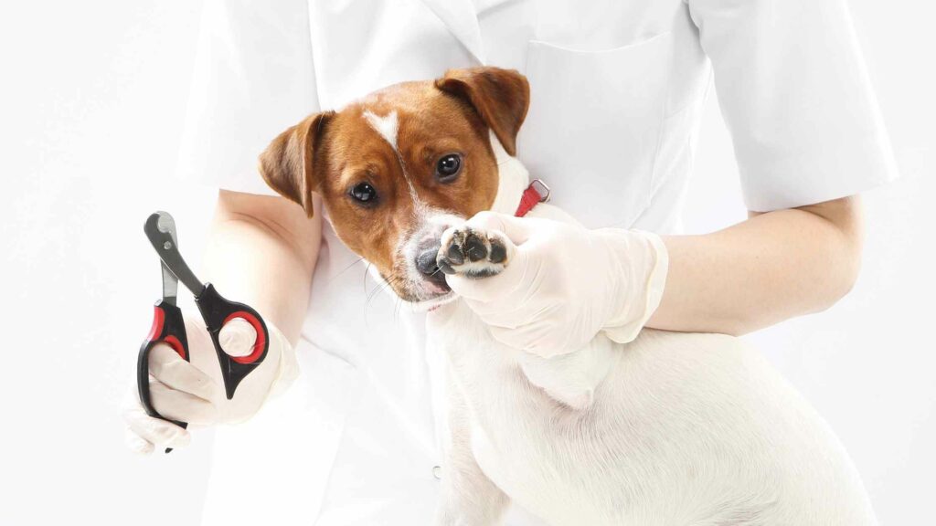
{"label": "white sleeve and bare arm at right, excluding the gloved hand", "polygon": [[[855,197],[896,177],[841,0],[688,0],[731,134],[749,221],[665,237],[649,326],[739,334],[820,311],[856,280]],[[819,203],[800,206],[804,203]]]}

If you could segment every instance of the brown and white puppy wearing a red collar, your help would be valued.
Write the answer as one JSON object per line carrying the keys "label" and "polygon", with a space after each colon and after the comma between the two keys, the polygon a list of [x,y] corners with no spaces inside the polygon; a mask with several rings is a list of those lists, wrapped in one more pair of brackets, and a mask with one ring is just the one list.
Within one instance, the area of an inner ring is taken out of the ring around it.
{"label": "brown and white puppy wearing a red collar", "polygon": [[[767,361],[720,334],[602,334],[554,358],[490,335],[446,272],[510,265],[504,233],[465,220],[514,212],[527,80],[496,67],[403,82],[305,118],[260,172],[427,314],[447,358],[436,524],[501,522],[515,502],[555,525],[870,525],[865,490],[823,419]],[[532,217],[574,223],[540,204]],[[445,271],[440,271],[445,270]]]}

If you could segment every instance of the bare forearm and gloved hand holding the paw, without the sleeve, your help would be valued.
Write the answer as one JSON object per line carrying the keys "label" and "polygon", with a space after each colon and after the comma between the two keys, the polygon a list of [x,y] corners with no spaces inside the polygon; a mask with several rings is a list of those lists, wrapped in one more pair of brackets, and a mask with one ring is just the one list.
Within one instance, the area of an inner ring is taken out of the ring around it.
{"label": "bare forearm and gloved hand holding the paw, without the sleeve", "polygon": [[661,238],[482,212],[512,255],[483,280],[446,281],[502,343],[550,357],[603,331],[619,343],[651,327],[738,335],[825,309],[855,283],[856,197],[752,213],[703,236]]}

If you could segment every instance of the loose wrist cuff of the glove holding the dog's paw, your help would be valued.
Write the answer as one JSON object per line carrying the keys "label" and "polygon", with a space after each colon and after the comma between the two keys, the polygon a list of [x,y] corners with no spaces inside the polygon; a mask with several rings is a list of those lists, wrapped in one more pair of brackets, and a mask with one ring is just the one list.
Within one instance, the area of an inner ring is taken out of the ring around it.
{"label": "loose wrist cuff of the glove holding the dog's paw", "polygon": [[603,228],[599,232],[612,249],[621,284],[611,287],[613,293],[617,298],[631,299],[618,303],[603,329],[611,340],[630,343],[660,306],[669,270],[669,253],[660,236],[652,232],[615,228]]}

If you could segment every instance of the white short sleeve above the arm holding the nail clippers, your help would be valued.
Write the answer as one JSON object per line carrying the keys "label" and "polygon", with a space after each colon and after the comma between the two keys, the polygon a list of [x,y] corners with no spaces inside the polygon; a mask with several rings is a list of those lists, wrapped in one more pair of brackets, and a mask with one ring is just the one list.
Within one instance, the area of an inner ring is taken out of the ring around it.
{"label": "white short sleeve above the arm holding the nail clippers", "polygon": [[275,195],[257,157],[318,110],[306,0],[208,0],[202,15],[177,173]]}

